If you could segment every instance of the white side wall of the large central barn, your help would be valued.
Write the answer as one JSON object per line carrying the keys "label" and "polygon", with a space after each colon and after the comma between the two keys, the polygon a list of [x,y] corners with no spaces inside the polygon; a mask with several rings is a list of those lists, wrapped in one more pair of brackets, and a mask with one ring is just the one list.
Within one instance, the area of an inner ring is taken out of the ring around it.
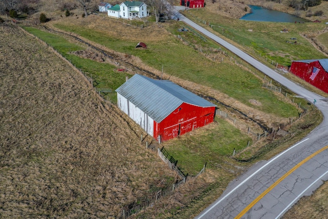
{"label": "white side wall of the large central barn", "polygon": [[117,93],[117,106],[148,134],[154,136],[154,120],[119,93]]}

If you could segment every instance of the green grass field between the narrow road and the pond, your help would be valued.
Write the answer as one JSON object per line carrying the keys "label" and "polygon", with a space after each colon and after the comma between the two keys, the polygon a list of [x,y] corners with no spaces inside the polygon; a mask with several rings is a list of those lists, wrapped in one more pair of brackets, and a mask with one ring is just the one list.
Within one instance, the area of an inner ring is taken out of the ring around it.
{"label": "green grass field between the narrow road and the pond", "polygon": [[[214,14],[206,8],[184,13],[190,19],[210,22],[218,34],[234,38],[245,50],[254,50],[256,55],[270,59],[283,66],[290,66],[292,60],[326,58],[317,51],[301,34],[312,34],[325,28],[324,23],[275,23],[251,22],[231,19]],[[197,22],[199,23],[199,22]],[[287,29],[288,32],[281,32]],[[294,44],[297,38],[297,44]],[[249,48],[245,48],[245,46]]]}

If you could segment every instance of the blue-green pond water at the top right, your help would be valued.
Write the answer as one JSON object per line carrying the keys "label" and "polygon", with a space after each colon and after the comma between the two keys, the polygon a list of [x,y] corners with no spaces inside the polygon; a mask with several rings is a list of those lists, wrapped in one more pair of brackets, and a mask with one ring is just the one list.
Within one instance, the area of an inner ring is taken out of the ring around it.
{"label": "blue-green pond water at the top right", "polygon": [[256,5],[249,5],[252,13],[246,14],[240,19],[246,21],[261,21],[261,22],[309,22],[301,17],[296,17],[292,14],[269,10]]}

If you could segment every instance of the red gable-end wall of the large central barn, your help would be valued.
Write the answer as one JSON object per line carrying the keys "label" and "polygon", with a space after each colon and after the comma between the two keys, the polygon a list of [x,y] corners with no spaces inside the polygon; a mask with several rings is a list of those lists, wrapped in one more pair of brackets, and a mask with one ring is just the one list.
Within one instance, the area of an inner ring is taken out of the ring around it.
{"label": "red gable-end wall of the large central barn", "polygon": [[154,138],[170,140],[214,121],[215,107],[198,107],[187,103],[181,104],[162,122],[154,122]]}

